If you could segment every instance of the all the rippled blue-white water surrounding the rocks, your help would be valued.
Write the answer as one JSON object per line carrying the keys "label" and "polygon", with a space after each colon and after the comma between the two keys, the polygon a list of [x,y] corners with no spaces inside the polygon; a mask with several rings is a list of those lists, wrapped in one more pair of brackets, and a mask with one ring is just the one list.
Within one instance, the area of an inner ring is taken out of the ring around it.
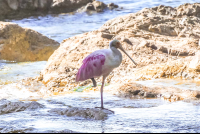
{"label": "all the rippled blue-white water surrounding the rocks", "polygon": [[[123,9],[107,10],[102,13],[68,13],[29,17],[22,20],[7,20],[22,27],[36,30],[58,42],[84,32],[101,27],[106,21],[143,8],[160,4],[176,7],[183,3],[195,3],[198,0],[101,0],[115,3]],[[74,92],[47,98],[20,87],[16,82],[23,78],[39,75],[46,61],[8,62],[0,61],[0,99],[29,100],[39,98],[37,102],[45,107],[0,115],[0,132],[200,132],[200,103],[184,101],[167,102],[162,99],[125,99],[104,94],[104,106],[113,110],[106,120],[93,120],[67,117],[49,113],[52,108],[75,106],[93,108],[100,106],[99,92]],[[139,81],[146,85],[176,86],[184,89],[200,90],[194,82],[174,80]],[[109,86],[108,86],[109,87]]]}

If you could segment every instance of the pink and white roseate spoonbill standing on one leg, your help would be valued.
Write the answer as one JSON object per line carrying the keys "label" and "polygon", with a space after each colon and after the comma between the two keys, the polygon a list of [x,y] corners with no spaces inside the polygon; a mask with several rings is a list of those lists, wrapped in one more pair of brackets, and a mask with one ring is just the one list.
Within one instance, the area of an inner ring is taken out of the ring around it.
{"label": "pink and white roseate spoonbill standing on one leg", "polygon": [[121,43],[118,40],[112,40],[109,44],[109,49],[101,49],[94,51],[88,55],[84,60],[83,64],[76,74],[76,82],[91,79],[93,87],[96,87],[96,81],[94,78],[103,76],[101,85],[101,108],[103,109],[103,86],[106,77],[110,72],[118,67],[122,62],[122,54],[118,48],[124,52],[132,62],[137,63],[126,53]]}

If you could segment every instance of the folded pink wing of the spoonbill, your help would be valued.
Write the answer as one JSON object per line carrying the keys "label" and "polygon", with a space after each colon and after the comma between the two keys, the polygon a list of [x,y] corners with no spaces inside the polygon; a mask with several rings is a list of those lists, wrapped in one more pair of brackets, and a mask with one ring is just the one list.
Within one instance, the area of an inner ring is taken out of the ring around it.
{"label": "folded pink wing of the spoonbill", "polygon": [[101,76],[102,66],[106,58],[104,54],[98,52],[93,52],[83,60],[83,64],[76,74],[76,81],[84,81],[95,76]]}

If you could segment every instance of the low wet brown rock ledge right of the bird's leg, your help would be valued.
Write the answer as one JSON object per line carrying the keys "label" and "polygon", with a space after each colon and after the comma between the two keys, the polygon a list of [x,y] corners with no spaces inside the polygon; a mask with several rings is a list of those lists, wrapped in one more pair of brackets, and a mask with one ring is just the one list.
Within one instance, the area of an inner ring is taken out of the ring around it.
{"label": "low wet brown rock ledge right of the bird's leg", "polygon": [[116,89],[119,97],[125,98],[163,98],[168,101],[197,99],[199,91],[182,90],[176,87],[144,86],[135,82],[120,84]]}

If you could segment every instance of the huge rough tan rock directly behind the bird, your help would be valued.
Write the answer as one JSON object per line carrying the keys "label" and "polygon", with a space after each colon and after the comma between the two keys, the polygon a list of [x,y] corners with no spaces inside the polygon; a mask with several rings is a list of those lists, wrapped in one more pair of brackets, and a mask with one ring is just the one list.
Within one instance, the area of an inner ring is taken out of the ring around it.
{"label": "huge rough tan rock directly behind the bird", "polygon": [[[123,54],[122,64],[107,77],[107,83],[117,83],[122,78],[124,81],[174,77],[198,80],[199,8],[198,3],[176,8],[163,5],[144,8],[109,20],[98,30],[63,40],[37,79],[52,90],[72,89],[78,85],[75,75],[83,59],[95,50],[108,48],[112,39],[118,39],[138,66]],[[90,80],[80,82],[79,86],[89,83]]]}

